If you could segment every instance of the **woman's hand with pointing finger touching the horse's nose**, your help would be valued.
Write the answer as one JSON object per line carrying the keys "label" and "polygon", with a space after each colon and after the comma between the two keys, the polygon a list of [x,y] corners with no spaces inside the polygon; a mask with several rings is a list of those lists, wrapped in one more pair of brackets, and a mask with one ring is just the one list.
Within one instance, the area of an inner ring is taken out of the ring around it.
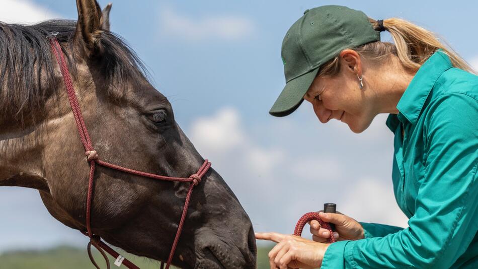
{"label": "woman's hand with pointing finger touching the horse's nose", "polygon": [[317,243],[299,236],[280,233],[256,233],[256,239],[278,243],[269,252],[271,269],[318,268],[329,244]]}

